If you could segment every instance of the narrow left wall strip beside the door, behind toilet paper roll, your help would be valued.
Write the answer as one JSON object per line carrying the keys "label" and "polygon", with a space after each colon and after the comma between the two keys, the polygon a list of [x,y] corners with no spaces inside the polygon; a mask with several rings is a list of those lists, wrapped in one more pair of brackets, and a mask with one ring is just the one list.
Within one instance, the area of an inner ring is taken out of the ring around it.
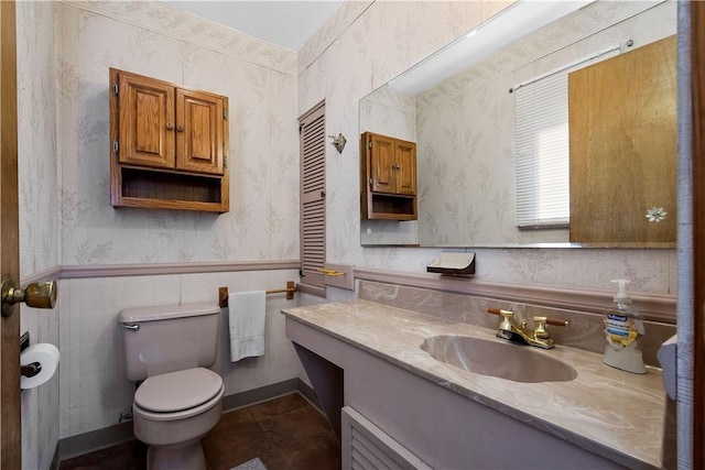
{"label": "narrow left wall strip beside the door, behind toilet paper roll", "polygon": [[[51,270],[59,259],[59,205],[54,2],[18,2],[18,177],[20,283]],[[20,307],[20,331],[32,343],[58,345],[59,308]],[[48,468],[58,440],[58,374],[23,391],[23,468]]]}

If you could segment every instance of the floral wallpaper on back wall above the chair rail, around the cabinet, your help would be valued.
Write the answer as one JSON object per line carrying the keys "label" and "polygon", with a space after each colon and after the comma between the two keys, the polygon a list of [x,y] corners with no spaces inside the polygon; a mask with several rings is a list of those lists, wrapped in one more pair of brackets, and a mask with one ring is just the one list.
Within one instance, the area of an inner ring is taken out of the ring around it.
{"label": "floral wallpaper on back wall above the chair rail, around the cabinet", "polygon": [[[297,259],[295,54],[156,2],[59,12],[63,264]],[[229,97],[229,212],[110,206],[109,67]]]}

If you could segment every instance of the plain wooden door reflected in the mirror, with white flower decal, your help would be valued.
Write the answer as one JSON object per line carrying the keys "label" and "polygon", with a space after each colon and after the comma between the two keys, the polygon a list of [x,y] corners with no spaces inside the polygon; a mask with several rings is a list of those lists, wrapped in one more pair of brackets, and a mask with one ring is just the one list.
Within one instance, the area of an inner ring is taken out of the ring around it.
{"label": "plain wooden door reflected in the mirror, with white flower decal", "polygon": [[674,243],[675,36],[570,74],[568,122],[571,241]]}

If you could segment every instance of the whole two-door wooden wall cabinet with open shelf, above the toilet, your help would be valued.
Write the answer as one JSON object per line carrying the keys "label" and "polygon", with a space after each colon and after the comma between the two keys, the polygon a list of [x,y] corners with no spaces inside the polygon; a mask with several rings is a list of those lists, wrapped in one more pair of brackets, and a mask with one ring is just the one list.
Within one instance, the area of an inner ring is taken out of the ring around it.
{"label": "whole two-door wooden wall cabinet with open shelf, above the toilet", "polygon": [[110,203],[229,210],[228,98],[110,68]]}

